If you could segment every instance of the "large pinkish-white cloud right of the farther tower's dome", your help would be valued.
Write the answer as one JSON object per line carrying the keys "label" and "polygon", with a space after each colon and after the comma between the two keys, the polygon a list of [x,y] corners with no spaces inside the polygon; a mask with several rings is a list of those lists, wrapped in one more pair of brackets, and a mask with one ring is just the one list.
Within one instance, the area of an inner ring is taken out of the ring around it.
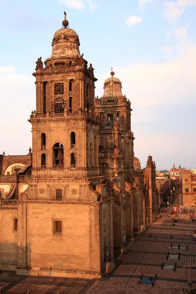
{"label": "large pinkish-white cloud right of the farther tower's dome", "polygon": [[[175,59],[165,63],[142,62],[115,69],[115,76],[122,81],[123,94],[130,98],[134,108],[195,99],[196,46],[184,41],[174,50]],[[98,87],[102,88],[102,85]]]}

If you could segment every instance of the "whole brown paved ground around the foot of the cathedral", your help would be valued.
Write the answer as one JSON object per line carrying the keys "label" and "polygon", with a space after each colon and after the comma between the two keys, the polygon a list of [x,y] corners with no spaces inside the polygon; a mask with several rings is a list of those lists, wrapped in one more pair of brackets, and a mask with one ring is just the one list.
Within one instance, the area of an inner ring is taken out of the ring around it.
{"label": "whole brown paved ground around the foot of the cathedral", "polygon": [[[163,290],[167,294],[182,294],[182,287],[187,285],[188,279],[188,270],[184,270],[183,266],[189,262],[196,264],[196,241],[192,237],[196,224],[190,221],[188,215],[181,215],[173,226],[172,218],[162,215],[161,221],[152,223],[145,233],[126,247],[116,262],[116,268],[102,279],[33,277],[1,272],[2,294],[22,294],[28,289],[30,294],[54,294],[57,291],[59,294],[157,294]],[[174,248],[179,245],[185,248]],[[179,252],[179,259],[172,259],[178,257]],[[163,262],[165,266],[176,263],[175,271],[162,270]],[[157,274],[154,286],[139,284],[142,274],[144,277],[155,277]],[[191,279],[196,288],[196,269],[191,270]]]}

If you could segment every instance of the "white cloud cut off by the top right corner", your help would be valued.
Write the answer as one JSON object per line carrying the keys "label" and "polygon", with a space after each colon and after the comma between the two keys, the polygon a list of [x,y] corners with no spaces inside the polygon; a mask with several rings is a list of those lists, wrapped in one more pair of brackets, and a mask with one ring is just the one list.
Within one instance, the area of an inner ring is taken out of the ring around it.
{"label": "white cloud cut off by the top right corner", "polygon": [[177,0],[175,2],[165,2],[165,18],[177,19],[182,16],[187,6],[195,6],[196,0]]}

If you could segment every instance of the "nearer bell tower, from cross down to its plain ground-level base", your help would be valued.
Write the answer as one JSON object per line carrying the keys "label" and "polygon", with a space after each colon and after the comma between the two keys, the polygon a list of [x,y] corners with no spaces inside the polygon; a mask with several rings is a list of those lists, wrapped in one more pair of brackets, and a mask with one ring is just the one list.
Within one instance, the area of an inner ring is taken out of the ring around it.
{"label": "nearer bell tower, from cross down to its plain ground-level base", "polygon": [[100,277],[97,79],[64,14],[51,56],[45,67],[38,58],[33,73],[32,177],[20,195],[17,272]]}

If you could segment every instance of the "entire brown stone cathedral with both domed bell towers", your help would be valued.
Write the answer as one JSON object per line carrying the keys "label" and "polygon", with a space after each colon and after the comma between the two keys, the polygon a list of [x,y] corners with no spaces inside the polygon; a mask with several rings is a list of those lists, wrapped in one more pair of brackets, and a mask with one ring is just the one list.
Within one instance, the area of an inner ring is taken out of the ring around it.
{"label": "entire brown stone cathedral with both domed bell towers", "polygon": [[156,167],[150,155],[134,167],[122,83],[112,71],[95,98],[94,68],[64,18],[33,73],[32,149],[0,155],[0,269],[98,278],[154,221]]}

